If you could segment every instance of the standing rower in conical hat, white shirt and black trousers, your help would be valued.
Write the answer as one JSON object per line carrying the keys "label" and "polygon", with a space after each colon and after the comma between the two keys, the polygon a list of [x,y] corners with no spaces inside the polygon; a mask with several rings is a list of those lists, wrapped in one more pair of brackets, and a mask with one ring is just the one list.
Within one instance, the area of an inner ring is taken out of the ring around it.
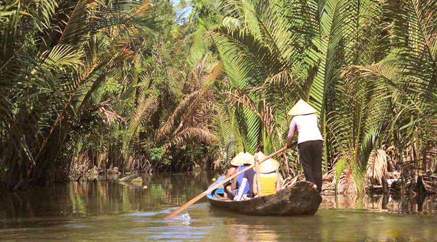
{"label": "standing rower in conical hat, white shirt and black trousers", "polygon": [[317,186],[321,191],[321,155],[322,137],[317,126],[316,110],[300,99],[288,112],[293,115],[287,137],[287,147],[291,147],[294,131],[297,129],[297,146],[300,154],[300,163],[303,166],[305,179]]}

